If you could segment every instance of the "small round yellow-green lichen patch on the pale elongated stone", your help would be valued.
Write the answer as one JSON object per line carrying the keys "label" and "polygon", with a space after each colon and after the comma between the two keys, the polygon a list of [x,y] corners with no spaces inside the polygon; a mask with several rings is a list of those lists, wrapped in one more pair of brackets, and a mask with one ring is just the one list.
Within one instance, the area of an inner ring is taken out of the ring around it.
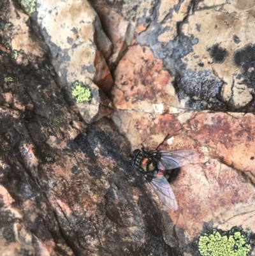
{"label": "small round yellow-green lichen patch on the pale elongated stone", "polygon": [[84,86],[82,82],[75,81],[71,87],[71,94],[77,103],[90,102],[91,87]]}

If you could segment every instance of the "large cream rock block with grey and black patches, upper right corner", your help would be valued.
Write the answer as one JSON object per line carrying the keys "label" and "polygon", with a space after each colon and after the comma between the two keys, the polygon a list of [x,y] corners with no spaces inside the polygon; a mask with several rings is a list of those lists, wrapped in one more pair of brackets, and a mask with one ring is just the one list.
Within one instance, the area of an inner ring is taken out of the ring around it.
{"label": "large cream rock block with grey and black patches, upper right corner", "polygon": [[[254,19],[254,3],[207,2],[154,1],[147,8],[145,2],[138,4],[137,23],[131,23],[136,26],[133,43],[162,59],[183,108],[252,112],[254,38],[247,20]],[[140,59],[133,69],[142,65]]]}

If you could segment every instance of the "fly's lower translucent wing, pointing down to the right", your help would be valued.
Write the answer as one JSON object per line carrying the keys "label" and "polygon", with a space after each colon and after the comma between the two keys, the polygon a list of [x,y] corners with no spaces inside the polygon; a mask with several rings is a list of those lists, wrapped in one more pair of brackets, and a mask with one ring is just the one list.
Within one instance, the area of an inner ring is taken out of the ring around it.
{"label": "fly's lower translucent wing, pointing down to the right", "polygon": [[143,176],[145,181],[149,184],[150,188],[157,193],[157,196],[161,199],[165,206],[177,211],[178,204],[175,199],[175,194],[171,190],[171,186],[164,176],[153,177],[152,180],[147,176]]}

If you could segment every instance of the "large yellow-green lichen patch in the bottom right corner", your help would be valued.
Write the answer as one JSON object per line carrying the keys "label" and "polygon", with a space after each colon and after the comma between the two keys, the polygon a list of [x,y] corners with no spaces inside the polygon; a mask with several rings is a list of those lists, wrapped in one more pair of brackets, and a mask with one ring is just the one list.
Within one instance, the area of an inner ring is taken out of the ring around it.
{"label": "large yellow-green lichen patch in the bottom right corner", "polygon": [[251,245],[245,232],[234,227],[228,232],[214,229],[200,236],[198,250],[202,256],[248,256]]}

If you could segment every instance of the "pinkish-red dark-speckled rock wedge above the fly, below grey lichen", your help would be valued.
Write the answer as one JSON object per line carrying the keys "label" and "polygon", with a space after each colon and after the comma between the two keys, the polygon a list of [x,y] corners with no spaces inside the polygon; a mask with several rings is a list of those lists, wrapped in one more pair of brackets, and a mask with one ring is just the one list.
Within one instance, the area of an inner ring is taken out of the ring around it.
{"label": "pinkish-red dark-speckled rock wedge above the fly, below grey lichen", "polygon": [[147,47],[130,47],[115,69],[111,92],[115,107],[157,114],[179,107],[171,76],[162,68],[162,61],[154,59]]}

